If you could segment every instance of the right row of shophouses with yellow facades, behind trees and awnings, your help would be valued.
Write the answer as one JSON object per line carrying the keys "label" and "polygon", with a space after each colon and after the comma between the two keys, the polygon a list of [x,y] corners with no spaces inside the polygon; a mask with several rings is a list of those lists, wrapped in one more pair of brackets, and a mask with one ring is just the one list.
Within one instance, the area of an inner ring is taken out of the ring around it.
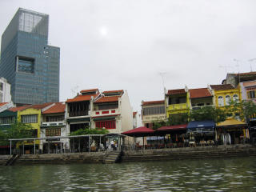
{"label": "right row of shophouses with yellow facades, behind trees and awnings", "polygon": [[[152,128],[155,122],[188,114],[191,110],[198,110],[207,106],[224,108],[229,106],[231,100],[256,102],[255,91],[255,72],[227,74],[226,79],[219,85],[208,85],[198,89],[189,89],[185,86],[182,89],[165,90],[165,96],[162,100],[142,101],[142,124]],[[166,133],[173,134],[176,137],[175,140],[177,140],[177,134],[184,136],[184,133],[189,131],[198,136],[198,142],[202,139],[216,141],[218,138],[225,138],[226,135],[229,135],[231,138],[229,142],[232,144],[238,144],[249,139],[255,142],[255,120],[256,118],[252,116],[249,119],[228,118],[225,122],[219,123],[191,121],[186,125],[170,126],[166,128],[169,129]],[[184,131],[181,131],[182,129]]]}

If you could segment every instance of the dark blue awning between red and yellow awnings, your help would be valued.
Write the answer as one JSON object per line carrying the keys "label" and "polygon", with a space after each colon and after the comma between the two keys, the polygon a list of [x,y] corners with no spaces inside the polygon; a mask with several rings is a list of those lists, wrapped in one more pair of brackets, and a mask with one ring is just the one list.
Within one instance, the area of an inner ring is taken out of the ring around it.
{"label": "dark blue awning between red and yellow awnings", "polygon": [[187,132],[207,133],[214,132],[214,121],[202,121],[202,122],[189,122],[186,126]]}

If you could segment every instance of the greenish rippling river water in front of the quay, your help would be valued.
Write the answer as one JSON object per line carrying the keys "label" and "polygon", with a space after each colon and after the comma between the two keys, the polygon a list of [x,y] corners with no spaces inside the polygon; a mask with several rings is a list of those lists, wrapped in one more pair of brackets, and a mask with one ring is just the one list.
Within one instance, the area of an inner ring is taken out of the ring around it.
{"label": "greenish rippling river water in front of the quay", "polygon": [[0,166],[0,191],[256,191],[256,158]]}

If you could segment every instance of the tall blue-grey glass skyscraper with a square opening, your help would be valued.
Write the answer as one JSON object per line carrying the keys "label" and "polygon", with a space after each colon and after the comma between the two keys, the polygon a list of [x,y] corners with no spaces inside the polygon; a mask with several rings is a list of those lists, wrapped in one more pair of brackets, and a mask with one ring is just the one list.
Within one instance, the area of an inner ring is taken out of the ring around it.
{"label": "tall blue-grey glass skyscraper with a square opening", "polygon": [[58,102],[60,49],[48,45],[49,15],[19,8],[2,34],[0,77],[16,104]]}

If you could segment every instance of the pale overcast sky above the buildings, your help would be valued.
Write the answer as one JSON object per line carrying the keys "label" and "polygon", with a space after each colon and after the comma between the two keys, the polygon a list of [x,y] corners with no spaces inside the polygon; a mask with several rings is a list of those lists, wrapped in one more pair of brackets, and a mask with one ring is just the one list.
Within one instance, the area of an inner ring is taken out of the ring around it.
{"label": "pale overcast sky above the buildings", "polygon": [[226,72],[256,70],[256,59],[248,62],[256,58],[254,0],[0,0],[0,7],[0,34],[18,7],[50,15],[61,101],[79,90],[127,90],[140,110],[142,100],[163,99],[163,86],[201,88],[221,84]]}

